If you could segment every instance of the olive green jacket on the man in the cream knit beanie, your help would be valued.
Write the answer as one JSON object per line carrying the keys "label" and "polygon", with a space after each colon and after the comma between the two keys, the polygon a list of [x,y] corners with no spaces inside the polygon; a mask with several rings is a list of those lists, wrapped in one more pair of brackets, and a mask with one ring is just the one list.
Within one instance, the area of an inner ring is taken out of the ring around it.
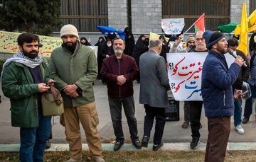
{"label": "olive green jacket on the man in the cream knit beanie", "polygon": [[[85,105],[95,101],[92,83],[97,78],[97,59],[95,52],[78,42],[75,52],[71,54],[65,47],[58,47],[50,55],[50,72],[56,81],[55,87],[63,96],[65,108]],[[76,84],[81,96],[70,98],[63,92],[63,87]]]}

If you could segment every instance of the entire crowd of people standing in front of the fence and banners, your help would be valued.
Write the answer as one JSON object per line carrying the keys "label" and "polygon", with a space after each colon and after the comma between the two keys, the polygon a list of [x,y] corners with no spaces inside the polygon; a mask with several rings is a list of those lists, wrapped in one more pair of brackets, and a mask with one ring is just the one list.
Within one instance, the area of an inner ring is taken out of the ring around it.
{"label": "entire crowd of people standing in front of the fence and banners", "polygon": [[[82,161],[80,124],[85,131],[89,156],[92,161],[105,161],[97,131],[99,118],[93,92],[95,79],[107,85],[107,96],[114,129],[114,151],[124,144],[122,108],[127,118],[132,145],[148,147],[151,129],[155,122],[153,151],[163,146],[162,137],[166,123],[165,109],[169,106],[169,78],[167,53],[208,52],[202,71],[203,101],[185,101],[184,129],[191,126],[191,149],[200,142],[201,111],[204,105],[208,118],[208,139],[205,161],[224,161],[230,134],[230,117],[234,115],[235,130],[244,134],[241,122],[246,124],[252,115],[256,96],[256,43],[255,33],[250,38],[250,53],[238,50],[238,40],[225,40],[225,35],[210,30],[188,35],[172,36],[169,41],[161,35],[150,40],[140,35],[137,42],[130,28],[125,28],[124,39],[114,34],[99,37],[97,58],[90,49],[90,41],[81,37],[74,25],[64,25],[60,30],[63,40],[55,48],[47,62],[39,54],[40,40],[37,35],[23,33],[18,36],[19,52],[6,60],[3,66],[2,90],[11,101],[11,125],[20,127],[20,161],[43,161],[43,153],[51,134],[51,117],[42,113],[42,93],[50,86],[60,91],[64,113],[61,125],[69,144],[70,159]],[[238,57],[228,67],[223,54],[228,49]],[[246,64],[247,66],[243,66]],[[215,70],[213,70],[215,69]],[[144,105],[144,133],[138,137],[135,117],[133,82],[140,83],[139,103]],[[55,82],[55,83],[53,83]],[[252,96],[246,98],[242,119],[242,92],[250,86]],[[0,98],[1,100],[1,98]]]}

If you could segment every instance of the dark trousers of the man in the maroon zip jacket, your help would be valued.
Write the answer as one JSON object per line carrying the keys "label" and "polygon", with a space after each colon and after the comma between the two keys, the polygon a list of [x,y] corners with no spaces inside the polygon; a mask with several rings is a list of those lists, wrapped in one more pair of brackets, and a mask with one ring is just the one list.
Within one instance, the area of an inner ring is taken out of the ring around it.
{"label": "dark trousers of the man in the maroon zip jacket", "polygon": [[132,142],[137,141],[137,120],[135,118],[135,105],[133,96],[126,98],[108,98],[110,104],[110,114],[114,127],[114,135],[117,141],[124,140],[124,133],[122,130],[122,105],[124,106],[124,114],[127,117],[129,132],[131,134]]}

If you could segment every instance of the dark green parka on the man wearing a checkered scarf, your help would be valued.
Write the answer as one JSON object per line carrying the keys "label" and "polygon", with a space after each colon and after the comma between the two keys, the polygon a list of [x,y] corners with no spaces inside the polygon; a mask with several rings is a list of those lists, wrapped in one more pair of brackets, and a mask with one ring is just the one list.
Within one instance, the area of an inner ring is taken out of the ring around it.
{"label": "dark green parka on the man wearing a checkered scarf", "polygon": [[[50,71],[46,62],[40,65],[43,80],[50,79]],[[4,66],[2,76],[4,96],[11,101],[11,125],[13,127],[38,127],[38,84],[33,78],[28,66],[18,62],[9,62]]]}

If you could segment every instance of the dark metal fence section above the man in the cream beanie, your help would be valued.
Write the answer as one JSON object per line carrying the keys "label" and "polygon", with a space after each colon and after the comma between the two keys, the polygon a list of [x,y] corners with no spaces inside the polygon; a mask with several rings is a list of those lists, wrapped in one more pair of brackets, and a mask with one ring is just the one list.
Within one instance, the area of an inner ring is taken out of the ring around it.
{"label": "dark metal fence section above the man in the cream beanie", "polygon": [[108,25],[107,0],[61,0],[60,18],[78,31],[98,31],[97,25]]}

